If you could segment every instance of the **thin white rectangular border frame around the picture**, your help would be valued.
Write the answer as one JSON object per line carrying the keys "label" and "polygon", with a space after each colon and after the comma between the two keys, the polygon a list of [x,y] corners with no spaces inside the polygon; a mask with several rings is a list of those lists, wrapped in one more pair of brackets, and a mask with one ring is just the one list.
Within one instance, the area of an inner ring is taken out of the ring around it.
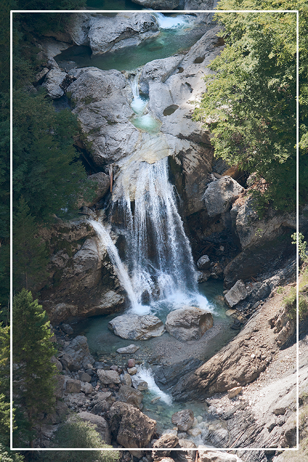
{"label": "thin white rectangular border frame around the picture", "polygon": [[[297,228],[297,237],[299,232],[299,10],[11,10],[10,11],[10,124],[11,124],[11,136],[10,136],[10,239],[11,239],[11,253],[10,253],[10,307],[11,307],[11,335],[10,335],[10,413],[11,413],[11,430],[10,430],[10,449],[11,451],[152,451],[153,448],[13,448],[13,345],[12,345],[12,303],[13,303],[13,252],[12,252],[12,243],[13,243],[13,13],[138,13],[151,11],[153,13],[176,13],[176,14],[189,14],[189,13],[296,13],[296,228]],[[234,452],[234,451],[298,451],[299,450],[299,310],[298,310],[298,281],[299,281],[299,243],[297,239],[296,243],[296,294],[297,294],[297,303],[296,303],[296,369],[297,369],[297,406],[296,406],[296,447],[295,448],[202,448],[202,451],[223,451],[223,452]],[[187,449],[190,451],[192,448]],[[155,448],[156,451],[165,451],[166,448]],[[170,451],[185,451],[185,449],[169,449]],[[198,448],[196,448],[198,450]]]}

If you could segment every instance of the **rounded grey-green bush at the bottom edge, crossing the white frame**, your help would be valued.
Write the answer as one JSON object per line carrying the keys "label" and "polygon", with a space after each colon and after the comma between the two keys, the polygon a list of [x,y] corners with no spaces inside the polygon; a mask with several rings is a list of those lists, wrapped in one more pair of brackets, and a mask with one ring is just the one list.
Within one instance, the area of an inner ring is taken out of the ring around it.
{"label": "rounded grey-green bush at the bottom edge, crossing the white frame", "polygon": [[[112,448],[106,445],[95,428],[78,417],[71,418],[56,430],[52,445],[55,448]],[[117,462],[118,451],[57,451],[58,462]],[[52,460],[46,454],[44,460]]]}

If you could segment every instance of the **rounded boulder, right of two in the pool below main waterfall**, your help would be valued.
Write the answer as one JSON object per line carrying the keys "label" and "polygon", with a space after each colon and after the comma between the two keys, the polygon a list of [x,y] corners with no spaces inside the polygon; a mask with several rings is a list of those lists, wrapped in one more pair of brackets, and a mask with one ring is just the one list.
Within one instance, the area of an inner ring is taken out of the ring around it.
{"label": "rounded boulder, right of two in the pool below main waterfall", "polygon": [[198,340],[213,326],[211,313],[195,306],[171,311],[166,318],[166,331],[181,341]]}

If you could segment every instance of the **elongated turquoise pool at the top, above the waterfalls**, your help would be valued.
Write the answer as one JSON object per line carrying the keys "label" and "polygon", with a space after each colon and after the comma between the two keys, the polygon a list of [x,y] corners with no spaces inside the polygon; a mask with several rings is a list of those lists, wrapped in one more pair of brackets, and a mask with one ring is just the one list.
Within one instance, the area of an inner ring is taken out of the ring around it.
{"label": "elongated turquoise pool at the top, above the waterfalls", "polygon": [[162,59],[188,50],[206,32],[208,26],[193,26],[187,23],[175,29],[163,29],[155,38],[149,38],[136,47],[122,48],[103,55],[92,55],[91,49],[85,46],[72,46],[55,56],[55,61],[62,66],[63,62],[73,61],[75,67],[98,67],[102,70],[133,70],[149,61]]}

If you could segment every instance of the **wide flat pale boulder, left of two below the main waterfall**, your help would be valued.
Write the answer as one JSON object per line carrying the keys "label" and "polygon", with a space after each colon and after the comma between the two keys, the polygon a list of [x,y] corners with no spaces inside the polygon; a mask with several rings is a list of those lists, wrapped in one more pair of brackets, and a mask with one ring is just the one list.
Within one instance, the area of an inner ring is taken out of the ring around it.
{"label": "wide flat pale boulder, left of two below the main waterfall", "polygon": [[108,322],[108,328],[115,335],[132,340],[147,340],[150,337],[160,337],[165,328],[163,322],[152,315],[122,315]]}

